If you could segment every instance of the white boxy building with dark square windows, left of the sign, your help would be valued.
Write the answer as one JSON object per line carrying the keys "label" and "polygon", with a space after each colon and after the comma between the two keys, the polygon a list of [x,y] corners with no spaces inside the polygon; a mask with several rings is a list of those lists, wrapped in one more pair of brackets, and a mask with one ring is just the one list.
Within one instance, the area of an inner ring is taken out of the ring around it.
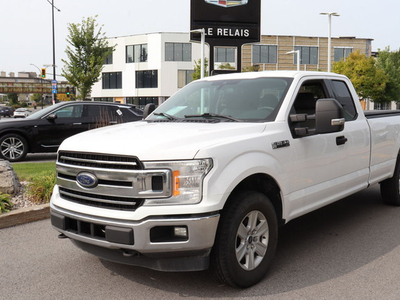
{"label": "white boxy building with dark square windows, left of the sign", "polygon": [[109,38],[115,51],[105,62],[92,98],[144,107],[161,104],[192,80],[201,45],[189,33],[150,33]]}

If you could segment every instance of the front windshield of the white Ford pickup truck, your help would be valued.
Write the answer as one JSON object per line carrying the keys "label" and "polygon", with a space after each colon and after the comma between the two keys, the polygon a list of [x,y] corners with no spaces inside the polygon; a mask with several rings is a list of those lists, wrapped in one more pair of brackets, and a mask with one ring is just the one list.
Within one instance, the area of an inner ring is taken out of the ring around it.
{"label": "front windshield of the white Ford pickup truck", "polygon": [[291,81],[276,77],[196,81],[174,94],[146,120],[272,121]]}

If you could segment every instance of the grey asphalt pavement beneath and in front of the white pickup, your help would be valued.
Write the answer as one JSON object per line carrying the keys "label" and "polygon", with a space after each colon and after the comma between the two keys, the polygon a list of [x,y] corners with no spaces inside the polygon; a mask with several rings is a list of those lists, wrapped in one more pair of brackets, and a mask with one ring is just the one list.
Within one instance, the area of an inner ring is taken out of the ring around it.
{"label": "grey asphalt pavement beneath and in front of the white pickup", "polygon": [[373,186],[280,232],[259,284],[239,290],[208,272],[162,273],[98,259],[57,238],[50,221],[0,230],[1,299],[400,299],[400,208]]}

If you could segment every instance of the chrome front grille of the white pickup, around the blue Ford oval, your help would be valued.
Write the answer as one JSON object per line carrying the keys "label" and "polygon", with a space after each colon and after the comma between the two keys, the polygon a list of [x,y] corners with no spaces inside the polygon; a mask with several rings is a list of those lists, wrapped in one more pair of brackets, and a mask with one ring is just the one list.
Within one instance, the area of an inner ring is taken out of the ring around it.
{"label": "chrome front grille of the white pickup, around the blue Ford oval", "polygon": [[[134,211],[146,199],[172,194],[171,170],[145,170],[136,157],[60,151],[56,169],[60,197],[82,205]],[[78,181],[80,174],[95,184]]]}

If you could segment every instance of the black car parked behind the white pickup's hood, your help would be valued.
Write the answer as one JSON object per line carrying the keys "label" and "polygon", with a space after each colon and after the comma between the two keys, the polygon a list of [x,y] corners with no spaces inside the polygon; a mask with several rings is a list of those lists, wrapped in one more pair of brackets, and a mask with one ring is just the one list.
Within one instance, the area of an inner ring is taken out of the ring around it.
{"label": "black car parked behind the white pickup's hood", "polygon": [[130,104],[61,102],[20,120],[0,122],[0,158],[23,160],[27,153],[56,152],[66,138],[97,127],[137,121],[143,112]]}

